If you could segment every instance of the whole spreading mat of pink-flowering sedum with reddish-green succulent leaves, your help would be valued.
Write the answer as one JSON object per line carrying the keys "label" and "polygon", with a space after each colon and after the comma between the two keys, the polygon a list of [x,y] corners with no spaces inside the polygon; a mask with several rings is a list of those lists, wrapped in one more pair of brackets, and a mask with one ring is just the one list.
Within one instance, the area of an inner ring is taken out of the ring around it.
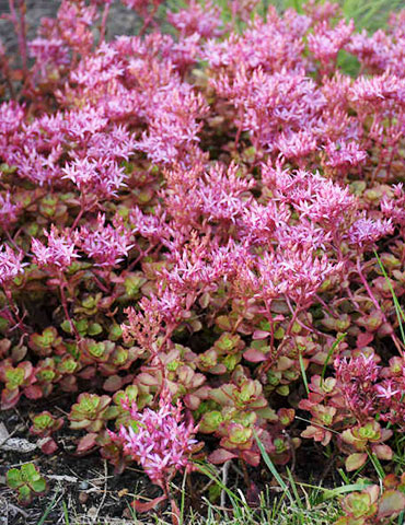
{"label": "whole spreading mat of pink-flowering sedum with reddish-green succulent leaves", "polygon": [[[262,16],[234,0],[222,22],[192,0],[163,34],[159,0],[123,1],[137,36],[106,39],[111,0],[63,0],[26,42],[10,0],[1,408],[73,396],[77,451],[100,448],[116,472],[141,464],[163,489],[148,509],[170,498],[176,513],[169,482],[196,458],[240,462],[248,483],[264,453],[282,470],[312,440],[349,472],[391,472],[347,495],[337,523],[392,518],[405,12],[369,36],[328,2]],[[44,453],[62,424],[33,417]]]}

